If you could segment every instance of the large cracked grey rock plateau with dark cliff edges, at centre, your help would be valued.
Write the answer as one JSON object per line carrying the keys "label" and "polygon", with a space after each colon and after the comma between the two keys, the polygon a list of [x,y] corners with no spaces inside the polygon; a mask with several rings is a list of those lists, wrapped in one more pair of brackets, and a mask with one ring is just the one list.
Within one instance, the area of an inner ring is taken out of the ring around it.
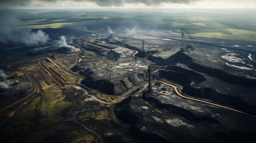
{"label": "large cracked grey rock plateau with dark cliff edges, at centre", "polygon": [[81,72],[85,77],[82,83],[107,94],[119,95],[147,81],[147,67],[151,63],[143,58],[119,58]]}

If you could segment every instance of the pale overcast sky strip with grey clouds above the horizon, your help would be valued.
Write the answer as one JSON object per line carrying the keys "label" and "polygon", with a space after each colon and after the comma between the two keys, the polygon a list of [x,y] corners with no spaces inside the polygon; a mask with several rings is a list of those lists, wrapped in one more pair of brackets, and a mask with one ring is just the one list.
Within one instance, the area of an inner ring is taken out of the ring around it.
{"label": "pale overcast sky strip with grey clouds above the horizon", "polygon": [[1,9],[256,8],[256,0],[0,0]]}

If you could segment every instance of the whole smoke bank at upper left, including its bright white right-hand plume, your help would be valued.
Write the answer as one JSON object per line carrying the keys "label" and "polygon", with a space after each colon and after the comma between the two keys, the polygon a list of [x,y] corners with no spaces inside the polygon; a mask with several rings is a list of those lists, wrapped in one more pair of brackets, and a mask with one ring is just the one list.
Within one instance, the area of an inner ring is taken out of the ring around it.
{"label": "whole smoke bank at upper left, including its bright white right-hand plume", "polygon": [[[60,40],[52,41],[49,38],[49,35],[47,35],[42,30],[34,32],[28,27],[21,27],[22,21],[17,19],[17,17],[12,15],[9,11],[0,12],[0,19],[0,42],[2,43],[14,42],[24,43],[26,45],[50,44],[55,47],[67,47],[70,49],[75,49],[75,47],[68,44],[72,43],[73,37],[69,39],[68,43],[65,36],[61,36]],[[45,46],[43,48],[36,48],[34,50],[44,48],[48,48],[48,46]]]}

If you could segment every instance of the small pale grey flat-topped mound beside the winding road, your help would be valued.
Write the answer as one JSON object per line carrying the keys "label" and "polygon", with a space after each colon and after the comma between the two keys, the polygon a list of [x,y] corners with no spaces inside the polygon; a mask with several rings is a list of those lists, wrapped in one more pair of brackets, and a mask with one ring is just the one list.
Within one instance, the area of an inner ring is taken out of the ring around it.
{"label": "small pale grey flat-topped mound beside the winding road", "polygon": [[114,58],[131,57],[134,52],[127,48],[115,48],[107,52],[107,55]]}

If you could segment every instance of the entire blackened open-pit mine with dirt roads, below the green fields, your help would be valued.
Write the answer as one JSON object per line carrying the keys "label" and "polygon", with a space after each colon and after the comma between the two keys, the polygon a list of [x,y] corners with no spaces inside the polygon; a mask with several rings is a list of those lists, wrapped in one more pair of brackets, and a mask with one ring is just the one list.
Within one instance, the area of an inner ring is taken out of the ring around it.
{"label": "entire blackened open-pit mine with dirt roads, below the green fields", "polygon": [[0,142],[256,141],[256,42],[87,29],[1,44]]}

